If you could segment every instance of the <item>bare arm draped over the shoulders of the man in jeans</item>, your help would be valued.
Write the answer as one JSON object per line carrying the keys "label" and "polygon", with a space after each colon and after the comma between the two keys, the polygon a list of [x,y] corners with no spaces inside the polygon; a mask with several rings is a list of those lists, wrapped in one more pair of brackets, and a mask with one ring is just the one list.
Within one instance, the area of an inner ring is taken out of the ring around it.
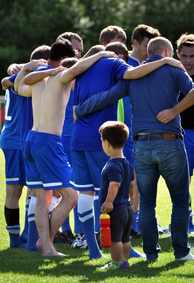
{"label": "bare arm draped over the shoulders of the man in jeans", "polygon": [[140,65],[140,66],[135,67],[135,68],[129,68],[125,71],[123,78],[124,79],[142,78],[145,75],[155,71],[156,69],[158,69],[159,67],[161,67],[165,64],[169,64],[173,67],[178,67],[178,68],[180,68],[180,69],[182,69],[183,71],[186,72],[186,69],[183,67],[183,65],[181,64],[180,61],[173,59],[173,58],[166,57],[166,58],[162,58],[160,60],[154,61],[154,62],[150,62],[150,63]]}

